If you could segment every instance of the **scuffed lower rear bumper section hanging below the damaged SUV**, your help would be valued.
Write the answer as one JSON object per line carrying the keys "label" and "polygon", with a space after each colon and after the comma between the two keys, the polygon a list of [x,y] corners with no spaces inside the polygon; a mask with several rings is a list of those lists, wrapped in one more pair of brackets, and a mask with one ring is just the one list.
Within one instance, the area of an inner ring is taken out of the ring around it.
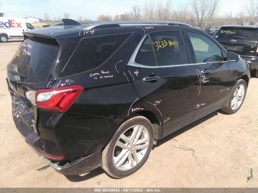
{"label": "scuffed lower rear bumper section hanging below the damaged SUV", "polygon": [[59,166],[58,162],[53,162],[52,160],[42,155],[40,152],[36,151],[32,146],[30,147],[58,173],[63,175],[80,175],[102,166],[101,149],[86,157],[80,157],[72,163],[66,163],[64,166]]}

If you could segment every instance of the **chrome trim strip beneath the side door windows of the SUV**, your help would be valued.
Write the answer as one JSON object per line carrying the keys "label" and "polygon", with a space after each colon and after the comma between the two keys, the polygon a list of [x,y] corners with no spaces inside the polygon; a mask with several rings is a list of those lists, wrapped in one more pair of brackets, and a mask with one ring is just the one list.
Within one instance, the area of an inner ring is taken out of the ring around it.
{"label": "chrome trim strip beneath the side door windows of the SUV", "polygon": [[[131,56],[127,65],[140,67],[140,68],[168,68],[168,67],[175,67],[175,66],[191,66],[191,65],[202,65],[202,64],[215,63],[215,62],[204,62],[204,63],[191,63],[191,64],[173,64],[173,65],[166,65],[166,66],[146,66],[146,65],[138,64],[134,60],[135,60],[136,55],[147,35],[148,34],[145,34],[144,37],[141,39],[141,41],[137,45],[137,47],[136,47],[135,51],[133,52],[133,55]],[[217,61],[216,63],[224,63],[224,62],[227,62],[227,61]]]}

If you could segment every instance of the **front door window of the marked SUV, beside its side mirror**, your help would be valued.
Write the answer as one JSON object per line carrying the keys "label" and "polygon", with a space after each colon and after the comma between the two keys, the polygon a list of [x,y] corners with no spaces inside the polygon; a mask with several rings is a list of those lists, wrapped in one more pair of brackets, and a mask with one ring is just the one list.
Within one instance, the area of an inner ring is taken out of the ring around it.
{"label": "front door window of the marked SUV, beside its side mirror", "polygon": [[221,49],[202,34],[188,32],[197,63],[223,61]]}

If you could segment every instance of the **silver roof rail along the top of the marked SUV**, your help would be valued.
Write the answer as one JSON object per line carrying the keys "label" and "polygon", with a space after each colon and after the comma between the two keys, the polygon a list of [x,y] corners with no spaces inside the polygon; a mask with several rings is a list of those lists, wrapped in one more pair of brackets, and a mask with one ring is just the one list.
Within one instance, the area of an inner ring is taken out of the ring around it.
{"label": "silver roof rail along the top of the marked SUV", "polygon": [[143,24],[143,23],[168,23],[169,25],[180,25],[180,26],[188,26],[193,27],[187,23],[182,22],[176,22],[176,21],[155,21],[155,20],[138,20],[138,21],[102,21],[102,22],[96,22],[88,27],[86,27],[84,30],[90,30],[90,29],[96,29],[96,28],[106,28],[106,27],[118,27],[119,24]]}

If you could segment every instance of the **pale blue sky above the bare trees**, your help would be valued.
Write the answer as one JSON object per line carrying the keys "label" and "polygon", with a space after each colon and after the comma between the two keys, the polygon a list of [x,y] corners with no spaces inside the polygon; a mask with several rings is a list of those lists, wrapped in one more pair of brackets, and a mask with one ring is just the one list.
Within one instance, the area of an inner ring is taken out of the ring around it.
{"label": "pale blue sky above the bare trees", "polygon": [[[161,0],[166,2],[166,0]],[[188,0],[171,0],[173,9]],[[101,14],[115,16],[131,10],[132,5],[144,5],[145,0],[0,0],[0,12],[5,17],[36,17],[44,20],[44,13],[53,17],[63,18],[64,13],[70,13],[70,19],[77,20],[79,16],[96,20]],[[232,12],[232,16],[241,11],[243,0],[220,0],[220,14]]]}

